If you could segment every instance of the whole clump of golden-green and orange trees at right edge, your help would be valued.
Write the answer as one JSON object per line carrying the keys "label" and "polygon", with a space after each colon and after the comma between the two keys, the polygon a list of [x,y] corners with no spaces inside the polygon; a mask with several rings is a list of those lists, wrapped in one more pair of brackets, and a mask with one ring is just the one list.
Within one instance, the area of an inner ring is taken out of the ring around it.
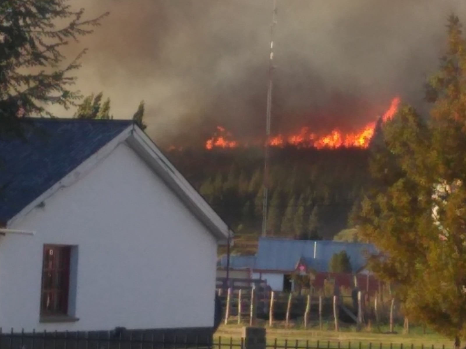
{"label": "whole clump of golden-green and orange trees at right edge", "polygon": [[454,15],[426,97],[428,122],[405,106],[382,127],[356,221],[380,250],[371,268],[395,285],[405,313],[459,348],[466,339],[466,41]]}

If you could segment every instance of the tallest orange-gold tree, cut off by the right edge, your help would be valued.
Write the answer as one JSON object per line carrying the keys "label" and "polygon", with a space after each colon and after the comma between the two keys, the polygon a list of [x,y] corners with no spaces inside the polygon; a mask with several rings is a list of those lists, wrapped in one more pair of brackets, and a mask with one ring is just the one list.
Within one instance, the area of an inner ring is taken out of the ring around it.
{"label": "tallest orange-gold tree, cut off by the right edge", "polygon": [[[458,17],[448,23],[448,45],[428,85],[432,101],[429,173],[436,175],[433,204],[439,239],[429,241],[425,290],[413,310],[432,328],[466,339],[466,40]],[[433,234],[437,234],[435,231]]]}

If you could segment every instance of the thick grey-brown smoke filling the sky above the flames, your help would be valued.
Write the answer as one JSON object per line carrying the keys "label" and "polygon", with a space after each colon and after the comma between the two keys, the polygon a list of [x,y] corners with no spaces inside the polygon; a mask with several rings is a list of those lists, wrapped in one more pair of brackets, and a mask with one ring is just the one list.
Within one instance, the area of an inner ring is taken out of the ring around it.
{"label": "thick grey-brown smoke filling the sky above the flames", "polygon": [[[83,93],[117,118],[146,101],[158,142],[204,140],[216,125],[263,134],[272,0],[73,0],[110,17],[80,47]],[[355,128],[399,95],[421,106],[464,0],[278,0],[273,133]]]}

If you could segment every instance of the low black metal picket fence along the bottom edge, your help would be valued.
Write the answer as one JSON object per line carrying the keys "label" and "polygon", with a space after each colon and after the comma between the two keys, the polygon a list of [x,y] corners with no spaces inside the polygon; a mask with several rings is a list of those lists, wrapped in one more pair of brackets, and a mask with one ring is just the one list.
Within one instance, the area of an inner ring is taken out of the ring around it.
{"label": "low black metal picket fence along the bottom edge", "polygon": [[[243,338],[177,336],[150,332],[2,332],[0,349],[257,349]],[[445,345],[267,339],[263,349],[445,349]],[[451,349],[452,347],[446,347]]]}

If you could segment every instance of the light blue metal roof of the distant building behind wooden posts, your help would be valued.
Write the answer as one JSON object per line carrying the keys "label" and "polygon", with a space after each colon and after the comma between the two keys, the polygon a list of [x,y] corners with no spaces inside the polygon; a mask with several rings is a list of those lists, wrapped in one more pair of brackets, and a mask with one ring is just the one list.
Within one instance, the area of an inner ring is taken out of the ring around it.
{"label": "light blue metal roof of the distant building behind wooden posts", "polygon": [[346,251],[355,272],[366,264],[365,252],[374,253],[376,248],[365,243],[259,238],[255,269],[293,271],[304,258],[311,268],[326,272],[332,256],[341,251]]}

